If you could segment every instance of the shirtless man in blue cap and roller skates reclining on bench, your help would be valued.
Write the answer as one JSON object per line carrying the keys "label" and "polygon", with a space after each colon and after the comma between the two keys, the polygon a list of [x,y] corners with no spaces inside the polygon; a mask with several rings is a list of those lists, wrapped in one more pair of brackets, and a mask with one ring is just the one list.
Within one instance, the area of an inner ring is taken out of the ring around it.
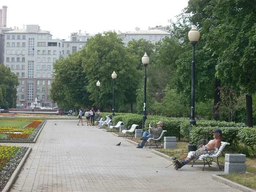
{"label": "shirtless man in blue cap and roller skates reclining on bench", "polygon": [[206,146],[200,145],[200,148],[197,149],[196,151],[193,151],[192,153],[188,153],[187,159],[184,161],[179,161],[174,157],[174,166],[175,169],[180,169],[187,163],[189,163],[192,159],[198,159],[200,155],[202,154],[210,154],[210,153],[216,153],[218,151],[219,146],[221,146],[221,140],[222,140],[222,131],[221,129],[215,129],[213,133],[214,140],[211,141],[211,143],[208,143]]}

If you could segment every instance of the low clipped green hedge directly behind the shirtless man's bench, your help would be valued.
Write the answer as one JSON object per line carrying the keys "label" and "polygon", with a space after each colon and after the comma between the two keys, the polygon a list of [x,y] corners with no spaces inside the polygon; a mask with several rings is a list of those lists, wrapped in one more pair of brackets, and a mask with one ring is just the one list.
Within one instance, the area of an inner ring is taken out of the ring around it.
{"label": "low clipped green hedge directly behind the shirtless man's bench", "polygon": [[193,127],[191,130],[190,140],[193,143],[199,144],[199,140],[212,140],[215,129],[222,130],[222,141],[237,145],[239,142],[239,132],[245,127]]}

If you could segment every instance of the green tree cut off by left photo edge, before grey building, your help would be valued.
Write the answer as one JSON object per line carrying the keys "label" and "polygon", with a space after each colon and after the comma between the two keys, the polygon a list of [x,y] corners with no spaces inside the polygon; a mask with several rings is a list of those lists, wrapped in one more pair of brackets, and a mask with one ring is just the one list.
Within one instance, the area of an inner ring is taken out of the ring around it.
{"label": "green tree cut off by left photo edge, before grey building", "polygon": [[12,103],[15,103],[18,85],[18,77],[11,72],[9,67],[0,64],[0,105],[2,108],[10,108]]}

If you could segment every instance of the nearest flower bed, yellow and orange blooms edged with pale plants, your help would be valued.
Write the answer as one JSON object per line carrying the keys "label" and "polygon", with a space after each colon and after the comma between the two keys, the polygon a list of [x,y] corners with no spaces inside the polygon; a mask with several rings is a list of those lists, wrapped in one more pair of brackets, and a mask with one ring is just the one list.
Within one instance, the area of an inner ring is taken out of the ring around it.
{"label": "nearest flower bed, yellow and orange blooms edged with pale plants", "polygon": [[0,146],[0,191],[7,184],[27,150],[28,147]]}

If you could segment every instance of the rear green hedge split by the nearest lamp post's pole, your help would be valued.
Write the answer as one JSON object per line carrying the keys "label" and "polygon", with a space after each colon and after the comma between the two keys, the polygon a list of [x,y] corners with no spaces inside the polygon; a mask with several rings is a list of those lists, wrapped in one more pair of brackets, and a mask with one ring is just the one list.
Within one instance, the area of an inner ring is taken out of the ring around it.
{"label": "rear green hedge split by the nearest lamp post's pole", "polygon": [[[246,127],[245,123],[234,123],[226,121],[196,121],[196,127]],[[180,133],[184,138],[189,139],[189,120],[181,123]]]}

